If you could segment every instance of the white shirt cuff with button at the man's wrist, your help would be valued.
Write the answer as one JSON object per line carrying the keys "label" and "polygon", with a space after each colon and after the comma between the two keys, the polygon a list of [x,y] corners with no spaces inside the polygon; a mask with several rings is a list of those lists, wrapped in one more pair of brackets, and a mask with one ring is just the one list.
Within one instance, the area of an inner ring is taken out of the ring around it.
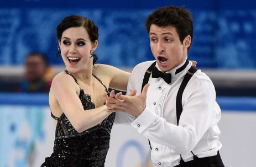
{"label": "white shirt cuff with button at the man's wrist", "polygon": [[151,123],[154,122],[155,118],[158,117],[154,112],[150,111],[149,107],[145,107],[145,110],[140,114],[131,125],[137,129],[139,133],[142,133],[147,129]]}

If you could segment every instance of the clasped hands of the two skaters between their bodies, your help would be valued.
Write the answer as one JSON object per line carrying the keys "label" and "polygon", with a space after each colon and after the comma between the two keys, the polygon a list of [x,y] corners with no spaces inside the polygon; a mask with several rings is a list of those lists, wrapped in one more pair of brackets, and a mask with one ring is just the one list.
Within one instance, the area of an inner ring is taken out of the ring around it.
{"label": "clasped hands of the two skaters between their bodies", "polygon": [[122,92],[114,94],[114,90],[110,92],[109,96],[105,93],[107,112],[126,112],[138,117],[146,107],[148,87],[149,84],[146,84],[138,96],[135,96],[137,90],[133,90],[128,95],[123,95]]}

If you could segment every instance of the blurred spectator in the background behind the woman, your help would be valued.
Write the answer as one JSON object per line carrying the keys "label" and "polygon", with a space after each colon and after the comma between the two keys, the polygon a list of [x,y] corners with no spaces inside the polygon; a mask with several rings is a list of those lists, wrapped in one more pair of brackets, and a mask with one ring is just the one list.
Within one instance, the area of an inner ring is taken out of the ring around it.
{"label": "blurred spectator in the background behind the woman", "polygon": [[49,93],[55,71],[49,66],[47,57],[41,52],[31,52],[25,59],[25,78],[17,91]]}

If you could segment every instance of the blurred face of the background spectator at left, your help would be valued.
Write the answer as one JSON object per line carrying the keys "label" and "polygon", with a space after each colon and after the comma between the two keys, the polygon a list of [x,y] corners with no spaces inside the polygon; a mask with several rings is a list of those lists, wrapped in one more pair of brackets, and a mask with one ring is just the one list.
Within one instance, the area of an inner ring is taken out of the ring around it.
{"label": "blurred face of the background spectator at left", "polygon": [[40,56],[27,57],[25,64],[25,74],[29,82],[40,80],[47,70],[44,60]]}

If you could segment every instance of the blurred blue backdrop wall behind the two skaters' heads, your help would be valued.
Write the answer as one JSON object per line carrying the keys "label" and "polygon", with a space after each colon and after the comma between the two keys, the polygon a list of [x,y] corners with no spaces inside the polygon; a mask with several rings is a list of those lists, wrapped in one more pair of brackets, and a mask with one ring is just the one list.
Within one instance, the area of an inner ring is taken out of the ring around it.
{"label": "blurred blue backdrop wall behind the two skaters' heads", "polygon": [[38,50],[51,64],[62,64],[56,26],[71,14],[91,18],[100,29],[99,62],[134,67],[152,60],[144,28],[147,15],[161,6],[189,8],[194,16],[190,60],[200,68],[255,69],[256,2],[245,1],[50,1],[0,2],[0,65],[22,65]]}

